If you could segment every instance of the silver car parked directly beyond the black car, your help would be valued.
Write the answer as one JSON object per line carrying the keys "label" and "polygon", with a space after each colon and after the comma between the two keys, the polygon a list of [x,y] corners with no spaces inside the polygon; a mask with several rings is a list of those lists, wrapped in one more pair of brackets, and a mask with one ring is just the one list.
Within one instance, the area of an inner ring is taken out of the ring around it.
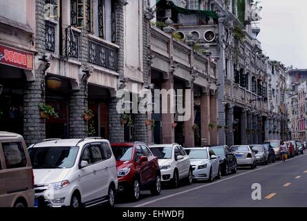
{"label": "silver car parked directly beyond the black car", "polygon": [[256,157],[250,146],[232,146],[230,149],[236,155],[236,163],[238,166],[250,166],[252,169],[257,167]]}

